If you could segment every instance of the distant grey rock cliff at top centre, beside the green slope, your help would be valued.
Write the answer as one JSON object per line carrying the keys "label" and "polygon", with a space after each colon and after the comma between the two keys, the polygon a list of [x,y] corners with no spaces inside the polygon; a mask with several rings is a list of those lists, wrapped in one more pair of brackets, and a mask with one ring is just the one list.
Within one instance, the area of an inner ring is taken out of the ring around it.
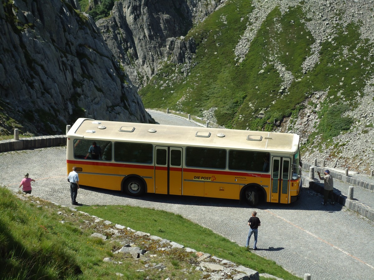
{"label": "distant grey rock cliff at top centre, beside the green slope", "polygon": [[111,16],[100,19],[96,25],[131,81],[141,87],[157,73],[162,62],[190,61],[191,53],[195,52],[194,41],[180,38],[219,3],[217,0],[119,0],[114,3]]}

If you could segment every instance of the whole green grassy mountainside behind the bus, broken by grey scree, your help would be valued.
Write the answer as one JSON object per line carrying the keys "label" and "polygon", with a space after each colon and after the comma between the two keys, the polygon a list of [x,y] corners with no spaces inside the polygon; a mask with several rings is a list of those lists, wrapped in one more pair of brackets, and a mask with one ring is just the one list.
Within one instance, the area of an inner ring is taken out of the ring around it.
{"label": "whole green grassy mountainside behind the bus, broken by grey scree", "polygon": [[[332,40],[321,44],[319,63],[304,75],[301,66],[312,55],[315,38],[305,27],[304,23],[312,19],[306,18],[302,6],[290,7],[284,15],[275,7],[251,42],[243,62],[234,60],[233,49],[246,29],[252,9],[250,1],[229,0],[191,29],[186,38],[196,41],[196,66],[184,77],[180,66],[165,63],[140,91],[145,107],[170,108],[197,116],[203,110],[218,107],[217,120],[228,128],[272,130],[274,120],[297,116],[300,103],[308,96],[327,91],[328,102],[319,112],[321,122],[310,139],[324,133],[325,141],[349,130],[354,120],[341,115],[355,106],[358,93],[364,94],[365,80],[373,75],[369,55],[373,45],[362,41],[359,26],[337,26],[336,36],[331,34]],[[274,59],[294,76],[287,94],[278,93],[282,78]],[[264,73],[258,74],[261,69]],[[256,118],[262,109],[267,109],[265,117]]]}

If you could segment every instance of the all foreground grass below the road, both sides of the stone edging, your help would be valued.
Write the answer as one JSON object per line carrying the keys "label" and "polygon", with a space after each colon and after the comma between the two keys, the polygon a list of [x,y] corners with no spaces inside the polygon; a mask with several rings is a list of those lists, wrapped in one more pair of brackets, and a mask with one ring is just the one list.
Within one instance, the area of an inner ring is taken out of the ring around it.
{"label": "all foreground grass below the road, both sides of the stone edging", "polygon": [[[184,270],[190,280],[201,278],[201,272],[192,266],[197,264],[193,254],[177,249],[163,251],[149,239],[127,230],[116,237],[110,230],[113,224],[94,223],[96,218],[67,207],[32,196],[22,197],[24,200],[0,187],[0,279],[185,279]],[[275,262],[246,251],[180,215],[130,206],[85,206],[79,210],[243,264],[260,273],[299,279]],[[111,240],[91,238],[94,232]],[[188,234],[181,235],[181,232]],[[148,257],[155,254],[148,263],[163,263],[166,269],[137,271],[144,270],[146,260],[113,254],[126,243],[147,249]],[[103,262],[107,257],[123,264]],[[122,273],[123,277],[116,273]]]}

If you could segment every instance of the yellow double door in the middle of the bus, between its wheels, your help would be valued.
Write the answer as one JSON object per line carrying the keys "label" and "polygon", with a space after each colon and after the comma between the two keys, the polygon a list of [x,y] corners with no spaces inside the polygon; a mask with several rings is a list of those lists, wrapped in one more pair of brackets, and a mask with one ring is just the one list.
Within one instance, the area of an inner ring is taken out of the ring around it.
{"label": "yellow double door in the middle of the bus, between its wheels", "polygon": [[182,194],[182,148],[156,146],[154,192]]}

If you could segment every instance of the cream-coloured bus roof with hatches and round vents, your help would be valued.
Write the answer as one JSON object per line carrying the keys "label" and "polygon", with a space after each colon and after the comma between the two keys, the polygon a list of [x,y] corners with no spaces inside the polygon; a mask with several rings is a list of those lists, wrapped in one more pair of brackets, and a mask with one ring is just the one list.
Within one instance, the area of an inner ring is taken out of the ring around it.
{"label": "cream-coloured bus roof with hatches and round vents", "polygon": [[97,121],[85,118],[77,119],[67,137],[291,154],[297,152],[299,145],[299,136],[292,133]]}

